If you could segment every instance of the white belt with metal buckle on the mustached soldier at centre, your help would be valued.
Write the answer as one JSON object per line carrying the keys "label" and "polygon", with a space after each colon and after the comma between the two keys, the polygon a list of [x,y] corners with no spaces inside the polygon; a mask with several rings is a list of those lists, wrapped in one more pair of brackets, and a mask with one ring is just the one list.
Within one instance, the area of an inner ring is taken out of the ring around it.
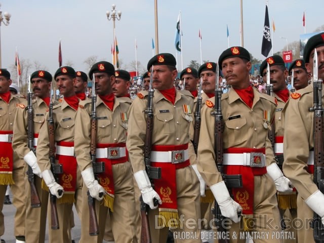
{"label": "white belt with metal buckle on the mustached soldier at centre", "polygon": [[159,163],[182,163],[189,159],[188,149],[173,151],[151,151],[151,161]]}

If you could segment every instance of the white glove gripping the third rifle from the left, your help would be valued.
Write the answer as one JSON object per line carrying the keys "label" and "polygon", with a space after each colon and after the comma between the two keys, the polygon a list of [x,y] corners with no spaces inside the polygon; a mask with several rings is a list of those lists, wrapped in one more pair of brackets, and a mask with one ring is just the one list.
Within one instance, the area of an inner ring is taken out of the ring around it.
{"label": "white glove gripping the third rifle from the left", "polygon": [[[93,168],[90,167],[83,172],[81,172],[82,178],[89,189],[89,193],[93,198],[96,198],[98,201],[103,199],[103,195],[107,194],[106,190],[95,180],[95,175],[93,173]],[[100,193],[102,195],[100,196]]]}

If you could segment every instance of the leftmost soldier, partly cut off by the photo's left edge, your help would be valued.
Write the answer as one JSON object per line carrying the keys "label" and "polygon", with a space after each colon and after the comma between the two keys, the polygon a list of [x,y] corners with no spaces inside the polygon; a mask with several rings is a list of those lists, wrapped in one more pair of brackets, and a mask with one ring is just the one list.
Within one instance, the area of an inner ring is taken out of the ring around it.
{"label": "leftmost soldier, partly cut off by the photo's left edge", "polygon": [[[9,86],[12,84],[7,69],[0,69],[0,238],[5,233],[4,198],[7,185],[13,193],[13,204],[16,207],[15,236],[17,243],[25,242],[25,198],[24,191],[24,160],[19,159],[12,149],[12,136],[16,108],[25,101],[12,95]],[[1,239],[1,242],[5,242]]]}

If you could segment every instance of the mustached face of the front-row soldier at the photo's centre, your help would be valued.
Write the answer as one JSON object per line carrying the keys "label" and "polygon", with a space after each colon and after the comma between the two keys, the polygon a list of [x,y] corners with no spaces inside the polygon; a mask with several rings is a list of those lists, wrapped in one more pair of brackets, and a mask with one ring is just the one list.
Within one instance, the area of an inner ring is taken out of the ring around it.
{"label": "mustached face of the front-row soldier at the photo's centre", "polygon": [[178,74],[177,70],[170,70],[167,65],[157,65],[154,66],[153,73],[153,89],[156,90],[168,90],[171,89],[174,80]]}

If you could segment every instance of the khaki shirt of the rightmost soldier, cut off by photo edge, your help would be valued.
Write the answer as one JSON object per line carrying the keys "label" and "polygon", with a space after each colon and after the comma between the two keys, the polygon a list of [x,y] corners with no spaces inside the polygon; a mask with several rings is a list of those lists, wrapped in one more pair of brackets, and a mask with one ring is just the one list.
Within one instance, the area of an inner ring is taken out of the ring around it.
{"label": "khaki shirt of the rightmost soldier, cut off by photo edge", "polygon": [[[313,176],[307,172],[309,151],[314,148],[314,112],[308,109],[313,106],[313,85],[298,90],[299,99],[289,99],[284,109],[285,161],[282,167],[285,176],[291,180],[299,195],[306,200],[318,188]],[[322,102],[324,97],[322,93]]]}

